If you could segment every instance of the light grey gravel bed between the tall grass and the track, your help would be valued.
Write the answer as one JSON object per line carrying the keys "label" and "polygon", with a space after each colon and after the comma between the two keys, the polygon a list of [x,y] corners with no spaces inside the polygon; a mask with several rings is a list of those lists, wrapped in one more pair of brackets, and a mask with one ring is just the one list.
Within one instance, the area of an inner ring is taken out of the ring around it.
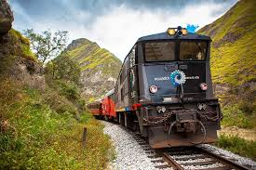
{"label": "light grey gravel bed between the tall grass and the track", "polygon": [[109,135],[113,141],[116,151],[116,159],[110,163],[109,168],[125,170],[155,170],[148,154],[142,149],[134,139],[131,132],[128,132],[118,124],[111,124],[102,121],[105,124],[104,133]]}

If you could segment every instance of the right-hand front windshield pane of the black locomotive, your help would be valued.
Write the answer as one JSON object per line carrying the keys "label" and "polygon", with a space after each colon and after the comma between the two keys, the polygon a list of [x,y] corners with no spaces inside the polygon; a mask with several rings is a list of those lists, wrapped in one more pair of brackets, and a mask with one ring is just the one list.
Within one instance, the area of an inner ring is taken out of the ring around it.
{"label": "right-hand front windshield pane of the black locomotive", "polygon": [[181,60],[205,60],[207,54],[207,42],[181,42]]}

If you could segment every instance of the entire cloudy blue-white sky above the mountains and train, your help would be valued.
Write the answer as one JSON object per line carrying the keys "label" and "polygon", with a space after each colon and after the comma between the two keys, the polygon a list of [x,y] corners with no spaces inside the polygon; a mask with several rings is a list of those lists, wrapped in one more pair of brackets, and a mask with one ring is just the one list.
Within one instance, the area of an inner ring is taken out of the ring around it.
{"label": "entire cloudy blue-white sky above the mountains and train", "polygon": [[8,0],[14,28],[68,31],[69,43],[88,38],[121,60],[138,38],[187,24],[200,29],[237,0]]}

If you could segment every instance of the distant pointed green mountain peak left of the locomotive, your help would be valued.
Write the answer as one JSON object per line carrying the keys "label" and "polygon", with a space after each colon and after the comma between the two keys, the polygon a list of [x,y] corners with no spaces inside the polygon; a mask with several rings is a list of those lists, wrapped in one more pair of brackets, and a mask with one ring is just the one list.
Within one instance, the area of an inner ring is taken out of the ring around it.
{"label": "distant pointed green mountain peak left of the locomotive", "polygon": [[79,63],[82,70],[81,84],[83,97],[88,100],[101,98],[114,88],[122,62],[108,50],[86,38],[74,40],[66,49],[68,54]]}

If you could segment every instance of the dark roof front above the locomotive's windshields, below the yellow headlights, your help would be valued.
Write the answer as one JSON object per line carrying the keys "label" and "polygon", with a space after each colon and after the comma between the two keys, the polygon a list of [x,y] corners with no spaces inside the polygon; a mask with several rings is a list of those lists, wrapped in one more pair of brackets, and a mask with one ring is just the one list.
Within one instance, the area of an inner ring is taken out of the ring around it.
{"label": "dark roof front above the locomotive's windshields, below the yellow headlights", "polygon": [[137,42],[141,41],[150,41],[150,40],[208,40],[211,41],[209,36],[201,35],[197,33],[187,33],[186,35],[176,36],[169,35],[167,32],[165,33],[155,33],[147,36],[142,36],[137,40]]}

